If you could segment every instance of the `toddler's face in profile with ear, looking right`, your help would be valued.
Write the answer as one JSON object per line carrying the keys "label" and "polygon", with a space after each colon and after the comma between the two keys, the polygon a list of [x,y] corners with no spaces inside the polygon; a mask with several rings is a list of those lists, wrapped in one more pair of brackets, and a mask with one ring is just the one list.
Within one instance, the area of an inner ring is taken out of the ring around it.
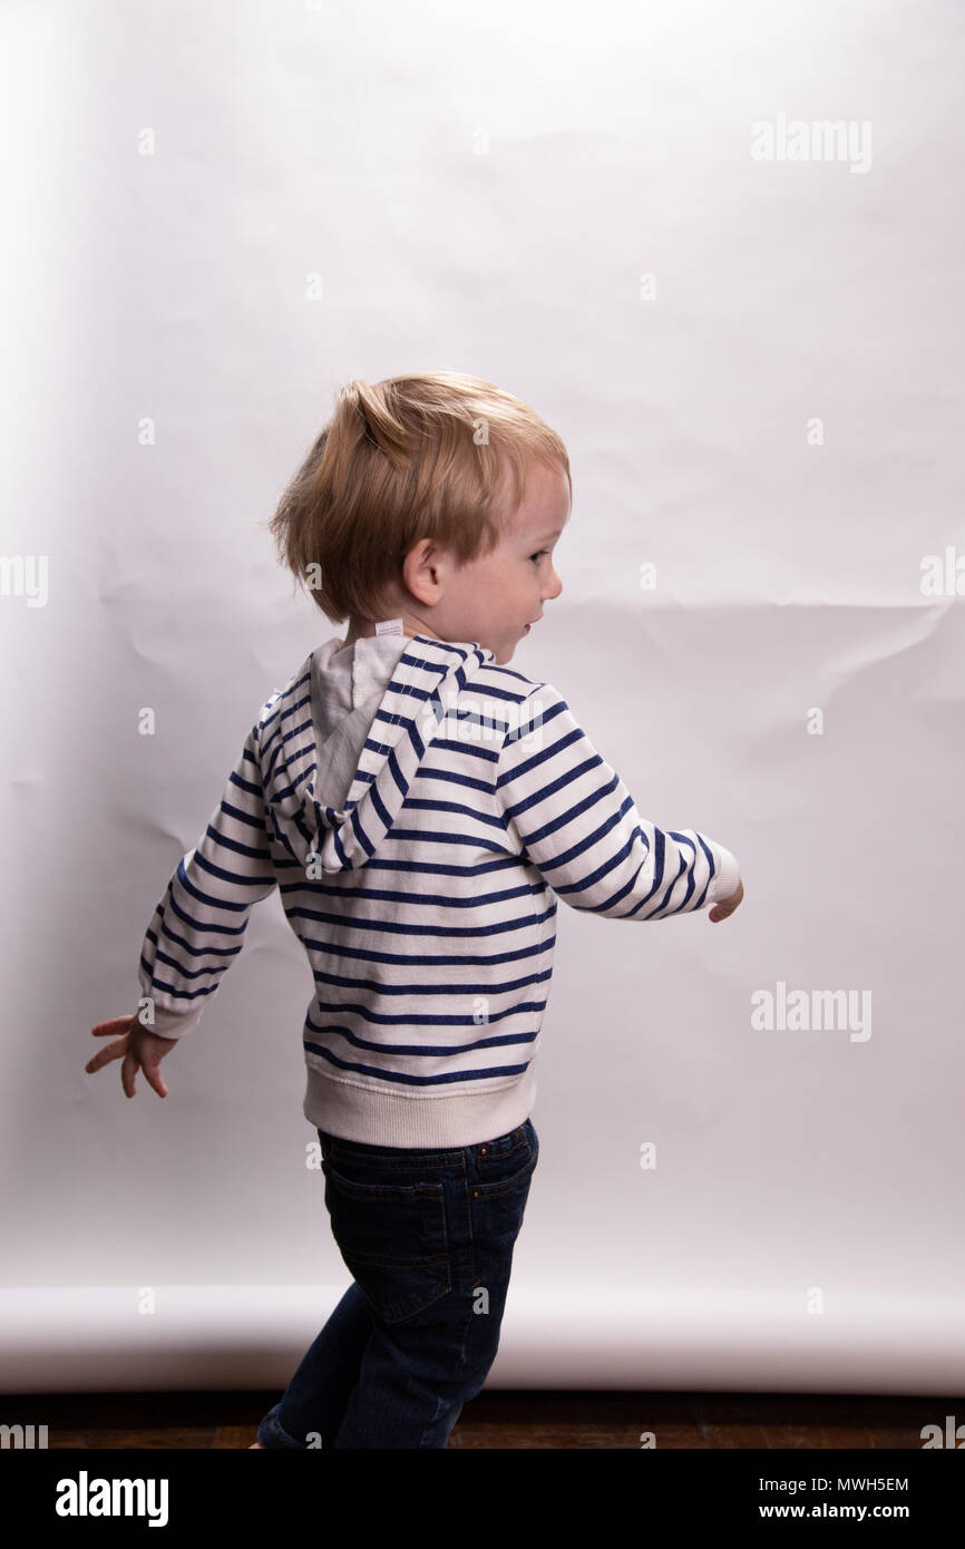
{"label": "toddler's face in profile with ear, looking right", "polygon": [[[494,652],[500,666],[510,661],[527,626],[542,618],[544,603],[562,592],[551,550],[568,514],[565,474],[534,463],[528,469],[525,499],[489,555],[462,568],[438,550],[426,556],[417,575],[426,579],[432,570],[441,595],[418,612],[426,613],[435,637],[477,640]],[[431,601],[429,596],[423,599]]]}

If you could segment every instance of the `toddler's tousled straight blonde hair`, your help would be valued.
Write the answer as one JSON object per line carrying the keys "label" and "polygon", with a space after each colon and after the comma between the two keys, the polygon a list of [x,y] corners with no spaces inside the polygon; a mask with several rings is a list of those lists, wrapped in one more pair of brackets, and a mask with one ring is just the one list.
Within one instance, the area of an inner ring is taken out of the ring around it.
{"label": "toddler's tousled straight blonde hair", "polygon": [[418,539],[451,548],[460,565],[496,548],[530,460],[564,472],[573,499],[559,435],[494,383],[462,372],[355,380],[339,387],[268,527],[331,623],[381,618],[379,593]]}

